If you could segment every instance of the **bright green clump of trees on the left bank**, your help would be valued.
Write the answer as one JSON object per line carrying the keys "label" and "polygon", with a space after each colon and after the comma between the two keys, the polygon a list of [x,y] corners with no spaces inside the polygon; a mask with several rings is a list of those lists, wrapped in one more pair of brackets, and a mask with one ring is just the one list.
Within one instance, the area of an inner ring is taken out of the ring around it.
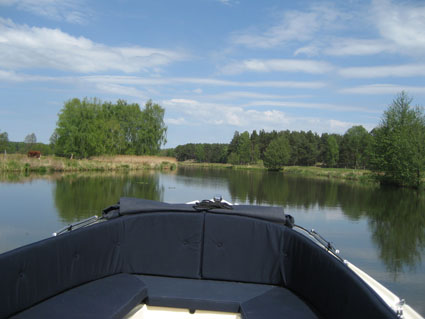
{"label": "bright green clump of trees on the left bank", "polygon": [[68,157],[155,155],[166,143],[164,112],[151,100],[141,109],[124,100],[75,98],[60,111],[50,142],[56,155]]}

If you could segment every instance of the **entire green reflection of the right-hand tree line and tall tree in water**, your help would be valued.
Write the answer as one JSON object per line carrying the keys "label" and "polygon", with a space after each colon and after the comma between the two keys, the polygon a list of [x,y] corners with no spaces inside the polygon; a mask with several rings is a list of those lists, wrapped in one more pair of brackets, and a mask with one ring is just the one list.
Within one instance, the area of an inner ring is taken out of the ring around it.
{"label": "entire green reflection of the right-hand tree line and tall tree in water", "polygon": [[414,267],[425,248],[425,194],[411,189],[229,170],[232,198],[309,209],[341,207],[350,219],[368,218],[372,240],[389,271]]}

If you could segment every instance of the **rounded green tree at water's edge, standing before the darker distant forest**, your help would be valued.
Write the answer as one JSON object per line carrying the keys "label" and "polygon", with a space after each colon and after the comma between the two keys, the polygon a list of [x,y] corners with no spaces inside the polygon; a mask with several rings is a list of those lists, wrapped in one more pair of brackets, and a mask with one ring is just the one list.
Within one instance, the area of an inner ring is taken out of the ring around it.
{"label": "rounded green tree at water's edge, standing before the darker distant forest", "polygon": [[289,141],[284,135],[272,140],[264,152],[264,166],[271,170],[278,170],[287,164],[291,155]]}

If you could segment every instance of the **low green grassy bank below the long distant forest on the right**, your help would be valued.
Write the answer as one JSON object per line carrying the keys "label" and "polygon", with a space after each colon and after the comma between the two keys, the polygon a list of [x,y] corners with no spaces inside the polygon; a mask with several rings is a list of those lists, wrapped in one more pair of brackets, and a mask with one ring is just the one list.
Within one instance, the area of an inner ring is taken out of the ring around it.
{"label": "low green grassy bank below the long distant forest on the right", "polygon": [[[179,167],[203,167],[203,168],[222,168],[222,169],[246,169],[246,170],[267,170],[263,165],[232,165],[218,163],[195,163],[179,162]],[[350,180],[362,183],[376,183],[373,173],[366,169],[348,169],[348,168],[325,168],[317,166],[284,166],[282,174],[298,175],[305,177],[317,177],[328,179]]]}

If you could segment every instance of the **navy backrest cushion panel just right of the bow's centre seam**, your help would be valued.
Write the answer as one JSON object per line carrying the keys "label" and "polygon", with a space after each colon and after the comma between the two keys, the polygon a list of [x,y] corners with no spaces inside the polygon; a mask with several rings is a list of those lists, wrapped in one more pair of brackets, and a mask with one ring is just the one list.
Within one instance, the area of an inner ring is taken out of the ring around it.
{"label": "navy backrest cushion panel just right of the bow's centre seam", "polygon": [[206,214],[203,278],[279,285],[282,262],[283,226]]}

